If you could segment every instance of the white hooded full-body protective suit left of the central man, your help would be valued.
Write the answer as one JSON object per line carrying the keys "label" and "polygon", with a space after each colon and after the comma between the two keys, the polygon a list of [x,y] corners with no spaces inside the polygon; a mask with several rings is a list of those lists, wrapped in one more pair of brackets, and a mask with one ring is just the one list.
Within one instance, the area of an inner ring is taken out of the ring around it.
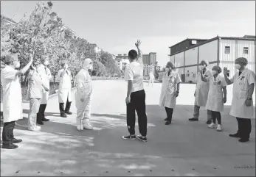
{"label": "white hooded full-body protective suit left of the central man", "polygon": [[[91,117],[91,76],[88,70],[81,69],[75,77],[75,106],[77,107],[77,125],[85,124]],[[81,98],[84,101],[81,101]]]}

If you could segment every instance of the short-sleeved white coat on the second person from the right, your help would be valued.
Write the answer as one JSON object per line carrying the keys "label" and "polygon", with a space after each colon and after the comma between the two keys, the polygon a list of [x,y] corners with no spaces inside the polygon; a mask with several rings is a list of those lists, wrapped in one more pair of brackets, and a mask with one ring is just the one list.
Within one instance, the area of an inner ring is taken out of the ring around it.
{"label": "short-sleeved white coat on the second person from the right", "polygon": [[226,81],[223,76],[218,74],[216,78],[214,76],[210,77],[210,89],[207,98],[207,104],[205,109],[216,112],[224,111],[224,103],[222,102],[223,91],[222,87],[226,87]]}

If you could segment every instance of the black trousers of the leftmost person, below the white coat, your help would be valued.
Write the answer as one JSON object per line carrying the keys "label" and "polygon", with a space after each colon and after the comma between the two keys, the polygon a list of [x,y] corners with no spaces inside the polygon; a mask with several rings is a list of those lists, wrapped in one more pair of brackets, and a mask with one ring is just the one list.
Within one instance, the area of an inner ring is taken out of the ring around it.
{"label": "black trousers of the leftmost person, below the white coat", "polygon": [[4,123],[3,132],[1,135],[3,144],[11,144],[12,143],[12,140],[14,137],[13,129],[15,127],[15,122],[16,121]]}

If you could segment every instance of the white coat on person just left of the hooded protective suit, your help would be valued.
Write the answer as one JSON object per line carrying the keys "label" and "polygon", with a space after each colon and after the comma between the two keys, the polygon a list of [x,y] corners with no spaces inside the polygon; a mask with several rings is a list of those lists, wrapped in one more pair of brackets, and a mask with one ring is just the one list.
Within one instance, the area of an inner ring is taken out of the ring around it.
{"label": "white coat on person just left of the hooded protective suit", "polygon": [[[64,69],[61,69],[58,71],[58,76],[60,77],[60,74],[63,72]],[[70,71],[65,72],[63,77],[60,77],[60,84],[59,84],[59,90],[58,90],[58,101],[59,103],[65,103],[67,99],[69,99],[69,102],[72,101],[71,98],[71,73]]]}

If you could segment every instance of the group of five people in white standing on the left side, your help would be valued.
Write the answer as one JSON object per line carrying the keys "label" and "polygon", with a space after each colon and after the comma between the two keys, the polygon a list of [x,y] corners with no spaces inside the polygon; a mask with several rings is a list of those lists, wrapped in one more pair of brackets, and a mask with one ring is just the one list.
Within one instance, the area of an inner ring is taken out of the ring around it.
{"label": "group of five people in white standing on the left side", "polygon": [[[45,109],[49,98],[49,82],[52,74],[47,68],[49,65],[49,57],[41,56],[41,59],[33,59],[33,54],[30,54],[30,61],[20,71],[20,61],[17,54],[8,54],[4,62],[5,68],[1,70],[1,84],[3,86],[3,117],[4,126],[2,131],[2,148],[14,149],[18,148],[15,145],[22,140],[14,137],[13,129],[15,122],[23,118],[22,112],[22,95],[21,83],[19,76],[28,73],[28,97],[30,101],[30,111],[27,119],[27,129],[30,131],[40,131],[44,121],[49,121],[45,118]],[[60,117],[66,118],[67,115],[72,115],[69,111],[72,103],[71,94],[71,73],[68,71],[68,63],[61,62],[61,69],[58,71],[60,84],[58,89],[58,101],[60,109]],[[75,86],[75,102],[77,106],[77,129],[93,129],[89,123],[91,115],[91,76],[89,70],[92,69],[91,59],[84,59],[83,67],[77,74]],[[64,109],[64,104],[66,107]]]}

